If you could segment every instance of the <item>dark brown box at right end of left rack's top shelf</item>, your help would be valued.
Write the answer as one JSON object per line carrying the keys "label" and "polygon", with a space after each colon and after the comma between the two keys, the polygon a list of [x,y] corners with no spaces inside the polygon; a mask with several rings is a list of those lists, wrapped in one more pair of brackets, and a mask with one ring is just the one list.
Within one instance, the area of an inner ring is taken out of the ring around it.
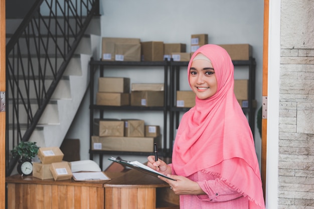
{"label": "dark brown box at right end of left rack's top shelf", "polygon": [[142,61],[163,61],[164,60],[164,42],[142,42],[141,43]]}

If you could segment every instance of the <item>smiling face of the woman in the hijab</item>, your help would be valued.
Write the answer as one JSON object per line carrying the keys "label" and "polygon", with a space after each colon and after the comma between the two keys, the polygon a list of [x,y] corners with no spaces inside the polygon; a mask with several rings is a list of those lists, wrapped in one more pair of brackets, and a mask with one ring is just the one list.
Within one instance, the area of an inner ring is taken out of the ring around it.
{"label": "smiling face of the woman in the hijab", "polygon": [[203,59],[194,60],[190,67],[189,82],[199,99],[207,99],[217,92],[217,79],[213,65]]}

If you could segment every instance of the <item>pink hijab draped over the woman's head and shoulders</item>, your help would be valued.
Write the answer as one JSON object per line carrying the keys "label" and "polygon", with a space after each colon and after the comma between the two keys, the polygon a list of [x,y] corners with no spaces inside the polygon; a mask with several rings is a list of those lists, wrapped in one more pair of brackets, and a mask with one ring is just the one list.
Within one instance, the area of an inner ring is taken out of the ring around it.
{"label": "pink hijab draped over the woman's head and shoulders", "polygon": [[202,171],[219,175],[226,184],[247,196],[250,208],[265,208],[254,140],[246,116],[234,95],[233,63],[217,45],[200,47],[211,61],[217,78],[217,92],[201,100],[184,114],[173,150],[177,175]]}

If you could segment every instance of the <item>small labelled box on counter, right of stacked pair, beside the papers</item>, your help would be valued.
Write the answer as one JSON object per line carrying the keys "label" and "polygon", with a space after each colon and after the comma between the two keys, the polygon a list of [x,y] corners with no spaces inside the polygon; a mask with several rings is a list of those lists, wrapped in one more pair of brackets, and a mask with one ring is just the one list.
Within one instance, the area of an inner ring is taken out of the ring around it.
{"label": "small labelled box on counter, right of stacked pair, beside the papers", "polygon": [[73,175],[70,163],[66,161],[51,163],[50,171],[55,181],[71,179]]}

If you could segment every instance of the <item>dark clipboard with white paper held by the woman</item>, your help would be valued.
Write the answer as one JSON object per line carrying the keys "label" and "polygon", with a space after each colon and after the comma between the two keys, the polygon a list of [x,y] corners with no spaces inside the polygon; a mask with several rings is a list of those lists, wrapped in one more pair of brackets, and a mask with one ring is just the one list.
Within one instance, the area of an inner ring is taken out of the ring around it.
{"label": "dark clipboard with white paper held by the woman", "polygon": [[135,170],[139,170],[141,172],[144,172],[144,173],[147,173],[149,175],[152,175],[152,176],[163,176],[165,178],[168,178],[168,179],[171,179],[171,180],[175,180],[173,178],[170,178],[168,177],[167,175],[164,175],[158,171],[155,171],[154,169],[151,169],[150,167],[148,167],[147,165],[144,165],[138,161],[126,161],[126,160],[122,160],[122,159],[116,159],[114,157],[111,157],[111,158],[108,158],[108,160],[111,160],[113,162],[117,162],[121,165],[124,165],[124,166],[128,166],[128,167],[131,167],[131,168],[134,168]]}

